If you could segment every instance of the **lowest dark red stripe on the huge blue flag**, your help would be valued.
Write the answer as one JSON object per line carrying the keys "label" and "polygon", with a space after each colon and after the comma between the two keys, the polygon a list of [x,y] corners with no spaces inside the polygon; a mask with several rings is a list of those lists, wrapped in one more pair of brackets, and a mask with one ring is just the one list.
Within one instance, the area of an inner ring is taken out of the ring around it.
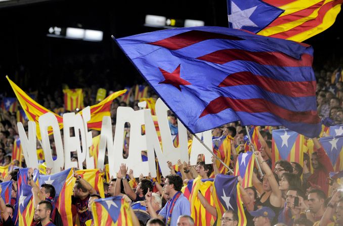
{"label": "lowest dark red stripe on the huge blue flag", "polygon": [[207,114],[217,114],[225,109],[232,108],[237,112],[247,113],[272,113],[282,119],[291,122],[303,122],[309,124],[316,124],[320,122],[317,111],[290,111],[279,107],[265,99],[232,99],[228,97],[219,97],[211,101],[203,110],[199,118]]}

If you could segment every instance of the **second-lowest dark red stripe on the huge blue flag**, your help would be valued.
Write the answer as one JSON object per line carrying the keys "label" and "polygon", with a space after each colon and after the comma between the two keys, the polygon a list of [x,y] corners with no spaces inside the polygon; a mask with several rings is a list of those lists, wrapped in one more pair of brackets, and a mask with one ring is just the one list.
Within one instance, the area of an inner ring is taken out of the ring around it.
{"label": "second-lowest dark red stripe on the huge blue flag", "polygon": [[256,85],[268,92],[290,97],[309,97],[316,95],[316,81],[280,81],[261,75],[254,75],[249,71],[242,71],[228,75],[219,87],[235,85]]}

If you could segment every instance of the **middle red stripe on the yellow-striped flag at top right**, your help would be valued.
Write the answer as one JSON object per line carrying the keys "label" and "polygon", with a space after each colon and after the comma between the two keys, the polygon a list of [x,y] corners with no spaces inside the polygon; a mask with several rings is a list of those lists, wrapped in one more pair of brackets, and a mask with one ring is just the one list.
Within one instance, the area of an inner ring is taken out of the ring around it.
{"label": "middle red stripe on the yellow-striped flag at top right", "polygon": [[279,17],[277,19],[275,19],[271,24],[268,25],[268,27],[264,28],[264,29],[268,29],[274,26],[278,26],[280,24],[285,24],[285,23],[289,23],[292,21],[296,21],[300,18],[304,18],[304,17],[308,17],[310,16],[316,9],[318,9],[319,7],[321,7],[323,5],[324,1],[319,2],[313,6],[310,6],[309,8],[303,9],[303,10],[299,10],[296,11],[292,14],[288,14],[282,17]]}

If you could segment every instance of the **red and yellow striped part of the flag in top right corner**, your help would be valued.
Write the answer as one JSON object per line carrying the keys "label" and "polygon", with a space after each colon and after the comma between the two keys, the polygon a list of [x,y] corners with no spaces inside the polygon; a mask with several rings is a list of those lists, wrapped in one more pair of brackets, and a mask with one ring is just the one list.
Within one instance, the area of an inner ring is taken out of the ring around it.
{"label": "red and yellow striped part of the flag in top right corner", "polygon": [[343,0],[264,0],[284,12],[258,34],[302,42],[329,28]]}

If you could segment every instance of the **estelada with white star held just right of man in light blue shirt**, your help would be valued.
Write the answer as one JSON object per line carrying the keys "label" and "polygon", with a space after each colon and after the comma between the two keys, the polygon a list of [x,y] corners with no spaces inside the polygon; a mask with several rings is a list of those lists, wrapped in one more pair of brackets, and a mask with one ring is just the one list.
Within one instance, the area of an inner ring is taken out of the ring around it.
{"label": "estelada with white star held just right of man in light blue shirt", "polygon": [[239,226],[246,225],[246,217],[239,193],[238,177],[232,175],[218,174],[215,178],[215,189],[213,199],[217,209],[217,225],[221,225],[221,218],[226,210],[237,212]]}

